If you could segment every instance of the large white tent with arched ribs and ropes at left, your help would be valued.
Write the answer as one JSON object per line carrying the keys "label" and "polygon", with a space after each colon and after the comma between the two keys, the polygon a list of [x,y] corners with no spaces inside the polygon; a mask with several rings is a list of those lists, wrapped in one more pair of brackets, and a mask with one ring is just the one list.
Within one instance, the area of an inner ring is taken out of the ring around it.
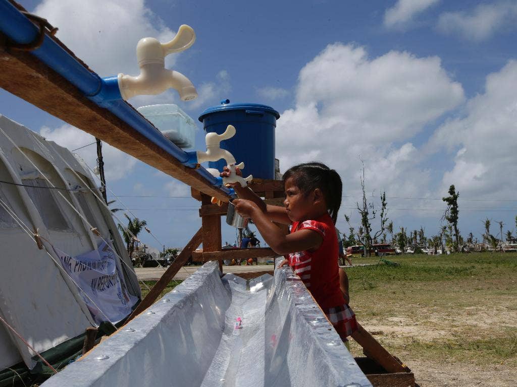
{"label": "large white tent with arched ribs and ropes at left", "polygon": [[[35,364],[35,353],[13,330],[42,352],[102,319],[116,322],[96,317],[96,312],[113,316],[110,304],[100,299],[93,281],[83,292],[80,279],[64,269],[64,259],[84,266],[95,257],[111,257],[114,274],[102,285],[116,285],[129,309],[141,297],[111,212],[94,192],[101,197],[80,159],[0,115],[0,316],[12,327],[0,322],[0,371],[21,360],[29,368]],[[43,249],[29,235],[33,230]],[[102,257],[100,246],[111,255]]]}

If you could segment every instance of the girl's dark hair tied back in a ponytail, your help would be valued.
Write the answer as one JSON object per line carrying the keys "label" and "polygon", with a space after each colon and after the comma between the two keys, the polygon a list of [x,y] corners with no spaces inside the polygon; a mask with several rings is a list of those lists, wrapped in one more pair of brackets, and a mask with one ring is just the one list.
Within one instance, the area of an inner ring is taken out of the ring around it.
{"label": "girl's dark hair tied back in a ponytail", "polygon": [[289,178],[293,178],[294,184],[304,195],[320,188],[327,203],[328,214],[336,224],[343,190],[343,183],[341,183],[338,172],[323,163],[313,162],[289,168],[282,178],[284,184]]}

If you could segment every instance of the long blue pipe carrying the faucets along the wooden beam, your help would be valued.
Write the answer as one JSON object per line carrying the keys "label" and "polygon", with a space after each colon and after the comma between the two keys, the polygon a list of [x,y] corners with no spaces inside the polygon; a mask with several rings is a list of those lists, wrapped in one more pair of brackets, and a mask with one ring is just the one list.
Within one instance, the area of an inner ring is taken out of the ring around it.
{"label": "long blue pipe carrying the faucets along the wooden beam", "polygon": [[[30,43],[38,35],[37,27],[7,0],[0,0],[0,29],[12,41]],[[123,101],[118,90],[116,77],[101,79],[96,73],[89,71],[79,61],[66,52],[59,44],[45,35],[43,43],[31,52],[34,56],[66,78],[90,100],[97,105],[107,108],[115,116],[129,124],[140,134],[176,158],[181,164],[193,167],[192,156],[178,148],[160,131],[145,120],[140,114]],[[212,186],[220,188],[225,195],[231,191],[221,187],[218,179],[214,178],[205,168],[196,169]]]}

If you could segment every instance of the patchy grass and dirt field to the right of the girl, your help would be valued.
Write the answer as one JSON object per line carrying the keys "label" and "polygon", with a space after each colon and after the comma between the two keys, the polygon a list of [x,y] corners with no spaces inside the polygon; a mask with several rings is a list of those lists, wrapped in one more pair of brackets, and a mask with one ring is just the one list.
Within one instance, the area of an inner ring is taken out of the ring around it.
{"label": "patchy grass and dirt field to the right of the girl", "polygon": [[[445,280],[374,278],[369,286],[352,286],[351,306],[362,326],[413,370],[421,387],[514,387],[516,267],[494,268],[489,260]],[[355,343],[352,352],[362,355]]]}

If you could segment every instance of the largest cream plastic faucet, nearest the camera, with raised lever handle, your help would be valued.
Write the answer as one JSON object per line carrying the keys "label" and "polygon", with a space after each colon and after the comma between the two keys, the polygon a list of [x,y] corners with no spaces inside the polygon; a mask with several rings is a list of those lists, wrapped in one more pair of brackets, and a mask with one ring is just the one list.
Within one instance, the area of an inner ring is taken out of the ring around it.
{"label": "largest cream plastic faucet, nearest the camera, with raised lever handle", "polygon": [[156,95],[167,89],[176,89],[182,101],[197,97],[194,85],[183,74],[165,69],[165,56],[187,50],[195,41],[192,27],[183,24],[178,33],[168,43],[160,43],[155,38],[140,39],[136,45],[136,58],[140,75],[118,74],[118,88],[124,100],[135,95]]}

